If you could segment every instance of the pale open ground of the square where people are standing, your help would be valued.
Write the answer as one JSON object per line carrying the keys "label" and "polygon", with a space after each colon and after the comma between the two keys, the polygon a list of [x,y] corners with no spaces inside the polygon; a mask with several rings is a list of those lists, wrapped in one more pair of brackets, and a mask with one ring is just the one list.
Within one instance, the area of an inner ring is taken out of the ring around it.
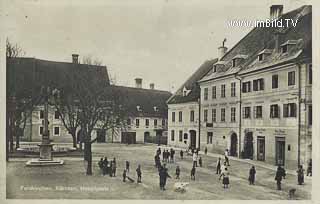
{"label": "pale open ground of the square where people are standing", "polygon": [[[256,185],[248,184],[251,164],[231,160],[230,186],[223,189],[215,174],[217,155],[201,155],[204,166],[196,170],[196,180],[190,180],[191,156],[181,160],[176,151],[176,162],[167,165],[172,179],[167,190],[159,190],[159,176],[154,167],[155,145],[94,144],[93,175],[85,175],[86,164],[81,158],[63,158],[65,165],[55,167],[26,167],[27,159],[12,159],[7,163],[7,198],[72,198],[72,199],[288,199],[288,191],[296,188],[295,199],[311,199],[311,179],[297,185],[295,175],[283,181],[283,190],[276,190],[275,171],[256,166]],[[162,148],[163,149],[163,148]],[[101,156],[117,158],[117,176],[100,174],[97,162]],[[135,169],[142,168],[142,183],[122,182],[125,161],[130,161],[129,176],[136,179]],[[181,168],[181,179],[174,179],[176,165]],[[174,192],[175,182],[188,182],[187,192]]]}

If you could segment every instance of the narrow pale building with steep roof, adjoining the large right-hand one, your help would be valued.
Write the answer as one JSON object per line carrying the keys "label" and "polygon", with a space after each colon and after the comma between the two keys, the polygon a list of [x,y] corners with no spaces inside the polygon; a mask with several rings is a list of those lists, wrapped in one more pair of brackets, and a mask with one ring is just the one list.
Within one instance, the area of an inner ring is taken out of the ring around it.
{"label": "narrow pale building with steep roof, adjoining the large right-hand one", "polygon": [[167,101],[169,145],[199,147],[200,87],[197,81],[211,70],[216,61],[217,59],[204,62]]}

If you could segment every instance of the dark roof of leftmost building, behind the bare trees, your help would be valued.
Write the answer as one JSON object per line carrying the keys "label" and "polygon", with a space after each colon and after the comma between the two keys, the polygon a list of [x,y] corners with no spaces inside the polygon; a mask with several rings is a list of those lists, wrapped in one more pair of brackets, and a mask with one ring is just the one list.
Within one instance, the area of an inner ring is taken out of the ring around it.
{"label": "dark roof of leftmost building, behind the bare trees", "polygon": [[[36,58],[7,60],[7,95],[30,97],[39,95],[42,86],[61,89],[70,87],[70,78],[83,75],[101,86],[109,85],[105,66],[54,62]],[[80,83],[77,79],[76,83]]]}

